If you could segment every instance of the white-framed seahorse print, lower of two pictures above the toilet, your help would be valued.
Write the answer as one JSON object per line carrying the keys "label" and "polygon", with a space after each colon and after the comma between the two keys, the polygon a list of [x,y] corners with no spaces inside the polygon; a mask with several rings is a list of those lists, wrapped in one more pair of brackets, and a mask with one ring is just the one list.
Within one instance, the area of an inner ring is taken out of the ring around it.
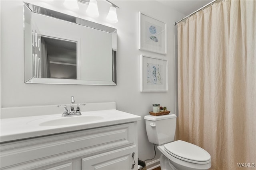
{"label": "white-framed seahorse print, lower of two pictures above the toilet", "polygon": [[167,60],[140,55],[140,92],[167,92]]}

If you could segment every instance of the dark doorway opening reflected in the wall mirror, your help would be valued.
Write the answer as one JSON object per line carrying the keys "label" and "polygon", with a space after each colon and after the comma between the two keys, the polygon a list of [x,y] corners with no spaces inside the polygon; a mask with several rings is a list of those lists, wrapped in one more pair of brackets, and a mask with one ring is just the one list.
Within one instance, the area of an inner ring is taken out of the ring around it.
{"label": "dark doorway opening reflected in the wall mirror", "polygon": [[36,77],[76,79],[76,42],[41,37],[40,46]]}

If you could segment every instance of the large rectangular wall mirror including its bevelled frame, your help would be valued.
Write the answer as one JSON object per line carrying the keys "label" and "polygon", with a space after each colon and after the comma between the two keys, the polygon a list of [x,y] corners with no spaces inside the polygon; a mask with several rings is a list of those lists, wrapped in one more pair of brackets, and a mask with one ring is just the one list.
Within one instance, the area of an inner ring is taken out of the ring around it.
{"label": "large rectangular wall mirror including its bevelled frame", "polygon": [[116,85],[116,29],[23,2],[24,82]]}

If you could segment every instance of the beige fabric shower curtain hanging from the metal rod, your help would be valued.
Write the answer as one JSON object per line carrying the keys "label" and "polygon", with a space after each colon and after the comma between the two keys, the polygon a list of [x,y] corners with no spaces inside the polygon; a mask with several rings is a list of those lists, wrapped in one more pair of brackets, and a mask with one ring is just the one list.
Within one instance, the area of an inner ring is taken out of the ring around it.
{"label": "beige fabric shower curtain hanging from the metal rod", "polygon": [[178,23],[178,109],[179,138],[207,150],[211,169],[256,169],[256,0]]}

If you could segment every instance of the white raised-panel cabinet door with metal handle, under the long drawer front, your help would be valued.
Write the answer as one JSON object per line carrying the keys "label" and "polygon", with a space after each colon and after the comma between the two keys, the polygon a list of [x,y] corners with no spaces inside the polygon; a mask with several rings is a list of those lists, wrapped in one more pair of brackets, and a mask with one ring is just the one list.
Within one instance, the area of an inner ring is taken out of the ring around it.
{"label": "white raised-panel cabinet door with metal handle, under the long drawer front", "polygon": [[136,146],[85,157],[82,170],[130,170],[134,164],[132,152],[136,152]]}

